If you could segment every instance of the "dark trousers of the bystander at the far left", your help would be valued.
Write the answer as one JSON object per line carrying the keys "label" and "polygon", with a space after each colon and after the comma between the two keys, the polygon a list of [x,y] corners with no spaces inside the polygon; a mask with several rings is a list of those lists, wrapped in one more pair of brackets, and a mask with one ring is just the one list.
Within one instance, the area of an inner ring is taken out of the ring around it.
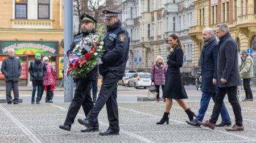
{"label": "dark trousers of the bystander at the far left", "polygon": [[[19,85],[18,81],[6,81],[6,100],[7,103],[19,103]],[[14,99],[11,98],[11,90],[13,90]]]}

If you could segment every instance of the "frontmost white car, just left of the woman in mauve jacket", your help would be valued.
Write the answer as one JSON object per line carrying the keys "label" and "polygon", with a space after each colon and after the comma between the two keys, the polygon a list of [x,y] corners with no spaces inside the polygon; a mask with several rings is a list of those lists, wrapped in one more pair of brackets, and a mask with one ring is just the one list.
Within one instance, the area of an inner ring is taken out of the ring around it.
{"label": "frontmost white car, just left of the woman in mauve jacket", "polygon": [[135,73],[127,84],[127,86],[134,86],[134,88],[144,87],[145,89],[150,85],[151,74],[146,72]]}

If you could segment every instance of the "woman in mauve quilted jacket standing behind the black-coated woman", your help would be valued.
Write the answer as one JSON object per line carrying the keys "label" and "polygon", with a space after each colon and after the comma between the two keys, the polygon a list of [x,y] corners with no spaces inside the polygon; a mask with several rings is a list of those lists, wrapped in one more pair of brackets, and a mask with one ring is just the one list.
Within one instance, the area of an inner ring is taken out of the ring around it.
{"label": "woman in mauve quilted jacket standing behind the black-coated woman", "polygon": [[[167,67],[164,64],[164,59],[159,55],[155,59],[155,63],[152,65],[151,69],[151,81],[155,84],[156,87],[156,101],[160,101],[159,93],[160,86],[162,86],[162,90],[164,90],[164,84],[166,83],[166,71]],[[164,102],[167,101],[167,98],[164,98]]]}

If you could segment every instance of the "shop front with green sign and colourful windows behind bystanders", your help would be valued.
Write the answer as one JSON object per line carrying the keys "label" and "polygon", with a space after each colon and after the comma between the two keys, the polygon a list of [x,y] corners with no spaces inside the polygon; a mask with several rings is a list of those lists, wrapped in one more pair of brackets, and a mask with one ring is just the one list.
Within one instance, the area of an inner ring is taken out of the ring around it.
{"label": "shop front with green sign and colourful windows behind bystanders", "polygon": [[[31,85],[31,76],[28,67],[35,60],[35,53],[40,53],[42,58],[47,56],[49,63],[53,67],[56,77],[56,83],[63,78],[63,54],[59,53],[58,41],[0,41],[0,66],[3,59],[8,57],[8,49],[15,50],[15,57],[19,59],[22,66],[22,75],[20,76],[19,85]],[[4,76],[0,72],[0,86],[5,85]]]}

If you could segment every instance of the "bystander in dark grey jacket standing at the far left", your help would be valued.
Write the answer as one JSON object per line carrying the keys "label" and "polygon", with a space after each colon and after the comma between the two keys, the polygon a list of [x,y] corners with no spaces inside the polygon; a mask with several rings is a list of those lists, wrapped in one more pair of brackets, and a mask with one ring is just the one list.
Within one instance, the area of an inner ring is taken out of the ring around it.
{"label": "bystander in dark grey jacket standing at the far left", "polygon": [[[5,75],[6,83],[6,100],[7,104],[19,103],[18,81],[21,75],[21,65],[19,59],[14,57],[14,49],[8,50],[9,57],[2,62],[1,72]],[[14,99],[11,98],[11,90],[13,90]]]}

